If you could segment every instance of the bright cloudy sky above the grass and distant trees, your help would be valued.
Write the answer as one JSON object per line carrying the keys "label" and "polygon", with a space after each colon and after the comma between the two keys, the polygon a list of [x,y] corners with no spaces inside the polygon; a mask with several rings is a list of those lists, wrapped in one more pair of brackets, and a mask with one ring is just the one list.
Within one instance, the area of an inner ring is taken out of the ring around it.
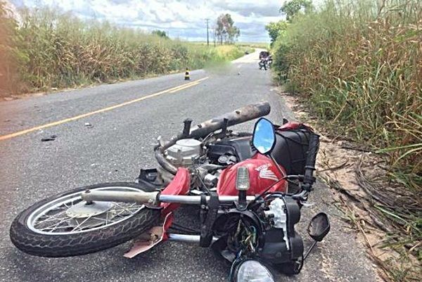
{"label": "bright cloudy sky above the grass and distant trees", "polygon": [[[165,30],[170,37],[205,41],[205,19],[210,29],[217,17],[229,13],[241,30],[238,41],[268,42],[265,25],[281,19],[283,0],[10,0],[16,7],[50,6],[71,11],[82,19],[107,20],[151,32]],[[210,41],[212,34],[210,33]]]}

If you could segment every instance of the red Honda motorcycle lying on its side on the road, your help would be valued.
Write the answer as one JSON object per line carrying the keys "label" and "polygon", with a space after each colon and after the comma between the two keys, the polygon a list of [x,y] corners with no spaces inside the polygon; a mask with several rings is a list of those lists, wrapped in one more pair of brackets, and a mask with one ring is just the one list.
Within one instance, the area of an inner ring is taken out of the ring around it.
{"label": "red Honda motorcycle lying on its side on the road", "polygon": [[[304,252],[295,231],[314,184],[319,136],[305,124],[263,116],[267,102],[158,138],[160,165],[134,183],[84,186],[27,208],[11,224],[11,241],[41,257],[70,257],[134,240],[134,257],[167,240],[210,247],[231,262],[230,281],[274,281],[269,269],[293,275],[330,230],[321,212],[309,223]],[[253,133],[229,127],[259,118]],[[176,224],[180,205],[198,207],[200,228]]]}

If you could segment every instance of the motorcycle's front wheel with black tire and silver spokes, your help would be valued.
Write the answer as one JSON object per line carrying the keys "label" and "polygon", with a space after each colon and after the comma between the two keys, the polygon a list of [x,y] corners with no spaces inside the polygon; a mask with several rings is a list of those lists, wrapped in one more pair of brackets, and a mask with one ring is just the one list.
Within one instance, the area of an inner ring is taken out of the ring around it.
{"label": "motorcycle's front wheel with black tire and silver spokes", "polygon": [[[86,205],[80,199],[79,194],[87,189],[90,191],[148,191],[140,184],[115,182],[84,186],[41,200],[18,214],[11,224],[10,237],[13,245],[29,255],[39,257],[87,255],[125,243],[151,229],[158,222],[159,209],[134,203],[98,202],[102,203],[98,205],[94,202],[97,209],[103,208],[103,210],[91,211],[89,217],[83,217],[86,214],[82,214],[81,218],[80,209],[79,211],[71,209],[78,203],[78,208]],[[68,202],[65,202],[65,199],[68,199]],[[60,205],[62,203],[60,200],[63,201],[63,205]],[[125,207],[124,205],[132,206]],[[47,212],[55,212],[60,207],[63,208],[60,212],[47,215]],[[43,211],[45,214],[42,214]],[[70,215],[76,215],[70,217],[69,211]],[[39,214],[41,215],[39,216]],[[63,219],[59,217],[59,214]],[[46,219],[41,220],[44,217]],[[52,227],[51,222],[55,219],[59,223]],[[36,222],[37,220],[39,222]],[[46,224],[49,226],[45,227]],[[87,226],[88,228],[86,228]],[[78,228],[80,230],[77,230]],[[70,229],[72,231],[69,231]]]}

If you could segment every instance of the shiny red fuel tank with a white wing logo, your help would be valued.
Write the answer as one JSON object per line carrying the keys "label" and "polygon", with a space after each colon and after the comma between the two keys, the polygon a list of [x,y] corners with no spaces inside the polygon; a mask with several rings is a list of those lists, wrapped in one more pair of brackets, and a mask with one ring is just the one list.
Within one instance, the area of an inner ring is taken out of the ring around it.
{"label": "shiny red fuel tank with a white wing logo", "polygon": [[[236,172],[238,167],[248,167],[250,188],[248,195],[254,196],[262,193],[271,184],[286,175],[286,170],[281,167],[283,174],[279,172],[274,162],[265,155],[255,154],[252,158],[238,162],[236,165],[223,170],[217,184],[217,193],[220,196],[237,196]],[[287,181],[283,180],[275,184],[269,191],[286,192]]]}

